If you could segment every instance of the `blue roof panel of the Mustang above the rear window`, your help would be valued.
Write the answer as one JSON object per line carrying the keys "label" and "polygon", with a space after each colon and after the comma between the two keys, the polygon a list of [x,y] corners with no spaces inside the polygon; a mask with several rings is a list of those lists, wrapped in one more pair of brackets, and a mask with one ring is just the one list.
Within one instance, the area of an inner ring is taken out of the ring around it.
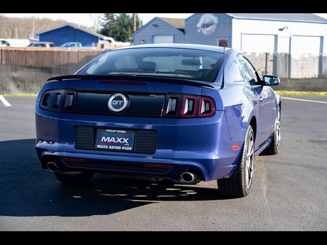
{"label": "blue roof panel of the Mustang above the rear window", "polygon": [[[168,43],[168,44],[142,44],[142,45],[133,45],[127,47],[117,48],[116,50],[125,50],[129,48],[188,48],[192,50],[204,50],[204,51],[213,51],[218,53],[224,53],[224,47],[219,46],[210,46],[210,45],[200,45],[200,44],[184,44],[184,43]],[[231,48],[226,47],[225,52],[231,50]]]}

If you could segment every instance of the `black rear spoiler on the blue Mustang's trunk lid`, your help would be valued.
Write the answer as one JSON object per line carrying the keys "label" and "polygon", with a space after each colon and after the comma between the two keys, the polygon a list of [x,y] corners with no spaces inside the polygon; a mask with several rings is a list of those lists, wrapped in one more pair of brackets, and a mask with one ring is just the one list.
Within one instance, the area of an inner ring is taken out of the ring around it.
{"label": "black rear spoiler on the blue Mustang's trunk lid", "polygon": [[46,81],[62,81],[62,80],[101,80],[101,81],[124,81],[124,82],[142,81],[142,82],[174,83],[174,84],[190,85],[195,87],[215,88],[214,85],[208,82],[194,81],[194,80],[187,80],[187,79],[157,78],[157,77],[145,77],[145,76],[65,75],[65,76],[49,78]]}

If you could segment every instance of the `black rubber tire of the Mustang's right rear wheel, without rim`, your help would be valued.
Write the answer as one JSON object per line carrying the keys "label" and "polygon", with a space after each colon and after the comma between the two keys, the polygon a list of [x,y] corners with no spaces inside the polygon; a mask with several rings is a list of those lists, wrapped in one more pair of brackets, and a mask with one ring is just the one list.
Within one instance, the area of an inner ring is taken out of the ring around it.
{"label": "black rubber tire of the Mustang's right rear wheel, without rim", "polygon": [[252,172],[254,171],[254,134],[251,125],[249,125],[249,128],[245,135],[242,157],[239,160],[239,164],[240,164],[239,173],[234,178],[217,180],[218,190],[220,194],[228,195],[230,197],[236,197],[236,198],[243,198],[249,194],[252,184],[252,179],[253,179],[253,173],[252,173],[252,176],[250,177],[251,181],[249,184],[247,184],[249,180],[246,180],[246,174],[247,174],[246,160],[248,159],[246,155],[248,151],[248,141],[250,137],[253,142],[253,153],[251,154],[251,157],[253,159]]}

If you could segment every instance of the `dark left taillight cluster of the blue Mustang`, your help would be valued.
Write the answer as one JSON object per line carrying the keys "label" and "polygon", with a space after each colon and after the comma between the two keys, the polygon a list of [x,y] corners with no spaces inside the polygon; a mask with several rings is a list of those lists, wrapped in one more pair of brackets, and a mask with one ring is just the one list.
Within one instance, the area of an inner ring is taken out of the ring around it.
{"label": "dark left taillight cluster of the blue Mustang", "polygon": [[50,111],[73,112],[76,99],[75,90],[48,90],[42,95],[40,107]]}

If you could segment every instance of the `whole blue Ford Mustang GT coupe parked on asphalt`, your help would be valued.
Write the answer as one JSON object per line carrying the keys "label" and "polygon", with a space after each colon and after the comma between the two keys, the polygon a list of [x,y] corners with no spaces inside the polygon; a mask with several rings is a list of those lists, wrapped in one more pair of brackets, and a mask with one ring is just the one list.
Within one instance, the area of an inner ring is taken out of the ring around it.
{"label": "whole blue Ford Mustang GT coupe parked on asphalt", "polygon": [[254,157],[277,154],[281,97],[237,50],[191,44],[120,48],[37,96],[36,151],[64,183],[94,173],[217,180],[244,197]]}

